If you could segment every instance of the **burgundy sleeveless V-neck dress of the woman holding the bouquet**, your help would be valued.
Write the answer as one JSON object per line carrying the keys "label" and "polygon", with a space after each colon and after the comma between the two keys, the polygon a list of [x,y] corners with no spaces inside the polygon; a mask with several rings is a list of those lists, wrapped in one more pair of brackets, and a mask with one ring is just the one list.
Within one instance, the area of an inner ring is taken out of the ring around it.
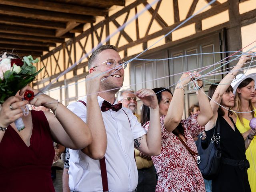
{"label": "burgundy sleeveless V-neck dress of the woman holding the bouquet", "polygon": [[0,142],[0,192],[54,192],[51,166],[54,147],[46,116],[31,111],[30,146],[8,126]]}

